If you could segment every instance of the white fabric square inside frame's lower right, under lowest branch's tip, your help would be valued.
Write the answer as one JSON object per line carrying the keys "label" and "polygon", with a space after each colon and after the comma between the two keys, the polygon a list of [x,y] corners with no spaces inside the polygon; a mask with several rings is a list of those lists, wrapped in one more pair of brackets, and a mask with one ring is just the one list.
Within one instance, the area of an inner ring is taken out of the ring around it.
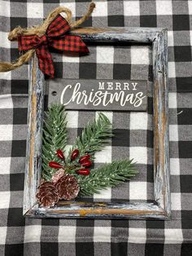
{"label": "white fabric square inside frame's lower right, under lowest branch's tip", "polygon": [[146,200],[146,182],[129,183],[129,199],[130,200]]}

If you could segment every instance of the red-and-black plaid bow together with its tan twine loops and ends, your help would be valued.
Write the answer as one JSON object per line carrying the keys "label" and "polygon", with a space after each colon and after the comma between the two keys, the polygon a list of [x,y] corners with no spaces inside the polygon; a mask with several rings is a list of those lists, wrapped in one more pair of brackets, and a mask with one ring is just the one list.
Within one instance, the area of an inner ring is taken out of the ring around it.
{"label": "red-and-black plaid bow together with its tan twine loops and ends", "polygon": [[[48,46],[61,51],[88,52],[89,50],[80,37],[66,35],[66,33],[85,22],[94,11],[94,7],[94,2],[91,2],[88,12],[80,20],[74,22],[72,22],[72,11],[65,7],[57,7],[50,12],[43,24],[28,29],[22,29],[20,26],[13,29],[8,39],[18,40],[19,50],[26,52],[20,55],[15,63],[0,62],[0,72],[8,72],[22,66],[36,52],[41,71],[51,78],[54,77],[53,61]],[[59,15],[62,12],[67,15],[66,18]]]}

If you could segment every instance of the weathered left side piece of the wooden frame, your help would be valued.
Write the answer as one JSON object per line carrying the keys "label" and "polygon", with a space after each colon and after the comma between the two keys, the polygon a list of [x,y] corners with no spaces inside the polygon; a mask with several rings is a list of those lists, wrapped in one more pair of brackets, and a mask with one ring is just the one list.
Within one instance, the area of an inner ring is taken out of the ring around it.
{"label": "weathered left side piece of the wooden frame", "polygon": [[36,205],[41,178],[41,136],[44,104],[44,76],[35,56],[30,65],[28,87],[28,138],[24,176],[24,214]]}

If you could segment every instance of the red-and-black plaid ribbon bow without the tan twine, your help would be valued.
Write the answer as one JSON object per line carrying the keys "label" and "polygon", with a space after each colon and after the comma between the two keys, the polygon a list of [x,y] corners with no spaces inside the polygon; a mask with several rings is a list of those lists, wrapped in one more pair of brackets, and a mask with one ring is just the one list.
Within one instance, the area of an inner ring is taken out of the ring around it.
{"label": "red-and-black plaid ribbon bow without the tan twine", "polygon": [[55,71],[49,46],[59,51],[89,52],[81,37],[66,34],[70,29],[68,21],[62,15],[58,15],[42,37],[37,35],[19,36],[19,51],[28,51],[35,48],[39,68],[42,73],[53,78]]}

